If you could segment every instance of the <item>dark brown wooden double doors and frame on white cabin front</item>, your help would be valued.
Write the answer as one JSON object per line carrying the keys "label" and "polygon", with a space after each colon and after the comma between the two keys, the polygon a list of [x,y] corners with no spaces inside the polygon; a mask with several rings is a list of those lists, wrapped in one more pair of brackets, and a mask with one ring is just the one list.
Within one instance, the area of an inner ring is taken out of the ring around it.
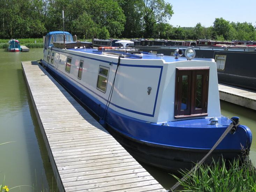
{"label": "dark brown wooden double doors and frame on white cabin front", "polygon": [[[210,67],[177,67],[175,79],[174,118],[191,118],[207,116]],[[188,75],[187,109],[182,105],[182,81],[180,77]],[[196,78],[202,75],[201,108],[196,108]]]}

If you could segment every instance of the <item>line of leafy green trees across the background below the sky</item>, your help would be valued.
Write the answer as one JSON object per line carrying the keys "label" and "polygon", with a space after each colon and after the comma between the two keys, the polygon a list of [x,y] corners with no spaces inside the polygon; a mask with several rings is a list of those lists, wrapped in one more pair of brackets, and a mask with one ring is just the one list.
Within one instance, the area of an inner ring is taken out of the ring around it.
{"label": "line of leafy green trees across the background below the sky", "polygon": [[211,27],[174,27],[164,0],[0,0],[0,38],[36,38],[65,31],[79,38],[255,40],[252,23],[216,18]]}

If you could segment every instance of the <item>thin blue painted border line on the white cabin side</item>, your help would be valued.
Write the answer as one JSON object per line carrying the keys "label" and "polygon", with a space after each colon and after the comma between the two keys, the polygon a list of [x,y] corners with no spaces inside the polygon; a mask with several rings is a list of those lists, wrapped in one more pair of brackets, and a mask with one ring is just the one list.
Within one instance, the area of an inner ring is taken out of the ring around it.
{"label": "thin blue painted border line on the white cabin side", "polygon": [[[52,49],[54,51],[59,51],[59,50],[55,50],[55,49]],[[66,53],[64,51],[59,51],[59,52],[63,52],[63,53]],[[106,63],[109,63],[110,61],[105,61],[105,60],[101,60],[101,59],[95,59],[95,58],[91,58],[91,57],[86,57],[86,56],[80,56],[80,55],[77,55],[77,54],[73,54],[73,53],[66,53],[66,54],[71,54],[71,55],[74,55],[74,56],[78,56],[78,57],[82,57],[82,58],[88,58],[88,59],[92,59],[92,60],[97,60],[97,61],[101,61],[101,62],[106,62]],[[117,65],[117,63],[115,62],[112,62],[114,65]],[[49,65],[49,63],[48,63]],[[51,66],[51,65],[50,65]],[[160,83],[161,83],[161,78],[162,78],[162,71],[163,71],[163,66],[158,66],[158,65],[131,65],[131,64],[120,64],[120,66],[125,66],[125,67],[143,67],[143,68],[160,68],[161,71],[160,71],[160,75],[159,75],[159,80],[158,80],[158,88],[156,90],[156,96],[155,96],[155,102],[154,102],[154,108],[153,108],[153,112],[152,114],[150,113],[142,113],[142,112],[139,112],[139,111],[134,111],[134,110],[131,110],[131,109],[126,109],[126,108],[123,108],[119,105],[116,105],[112,102],[110,102],[111,105],[119,108],[119,109],[122,109],[122,110],[125,110],[125,111],[128,111],[128,112],[132,112],[132,113],[136,113],[138,115],[144,115],[144,116],[148,116],[148,117],[154,117],[155,116],[155,109],[156,109],[156,103],[157,103],[157,99],[158,99],[158,93],[159,93],[159,88],[160,88]],[[51,66],[52,67],[52,66]],[[78,82],[77,80],[73,79],[72,77],[66,75],[65,73],[63,73],[62,71],[58,70],[60,73],[62,73],[63,75],[67,76],[68,78],[72,79],[73,81],[75,81],[76,83],[80,84],[82,87],[86,88],[87,90],[91,91],[93,94],[97,95],[98,97],[102,98],[104,101],[108,101],[107,99],[105,99],[104,97],[102,97],[101,95],[97,94],[95,91],[89,89],[88,87],[84,86],[83,84],[81,84],[80,82]]]}

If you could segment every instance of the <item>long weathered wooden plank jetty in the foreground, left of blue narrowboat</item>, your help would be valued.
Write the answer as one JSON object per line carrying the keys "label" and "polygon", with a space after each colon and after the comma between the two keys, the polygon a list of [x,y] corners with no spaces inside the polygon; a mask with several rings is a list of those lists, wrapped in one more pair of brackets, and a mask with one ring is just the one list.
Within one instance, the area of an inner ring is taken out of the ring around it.
{"label": "long weathered wooden plank jetty in the foreground, left of blue narrowboat", "polygon": [[166,191],[42,66],[22,68],[59,191]]}

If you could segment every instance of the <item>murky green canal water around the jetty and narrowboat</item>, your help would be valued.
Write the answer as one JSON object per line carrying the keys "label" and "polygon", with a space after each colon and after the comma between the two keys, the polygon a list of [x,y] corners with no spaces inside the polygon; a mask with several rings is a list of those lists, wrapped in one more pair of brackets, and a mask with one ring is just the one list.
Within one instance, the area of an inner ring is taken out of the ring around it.
{"label": "murky green canal water around the jetty and narrowboat", "polygon": [[[42,138],[21,61],[43,58],[43,49],[10,53],[0,49],[0,184],[11,192],[57,191],[51,164]],[[254,139],[250,158],[256,165],[256,111],[221,101],[222,115],[238,116],[250,127]],[[169,173],[143,165],[166,189],[176,180]],[[34,188],[33,188],[34,186]]]}

